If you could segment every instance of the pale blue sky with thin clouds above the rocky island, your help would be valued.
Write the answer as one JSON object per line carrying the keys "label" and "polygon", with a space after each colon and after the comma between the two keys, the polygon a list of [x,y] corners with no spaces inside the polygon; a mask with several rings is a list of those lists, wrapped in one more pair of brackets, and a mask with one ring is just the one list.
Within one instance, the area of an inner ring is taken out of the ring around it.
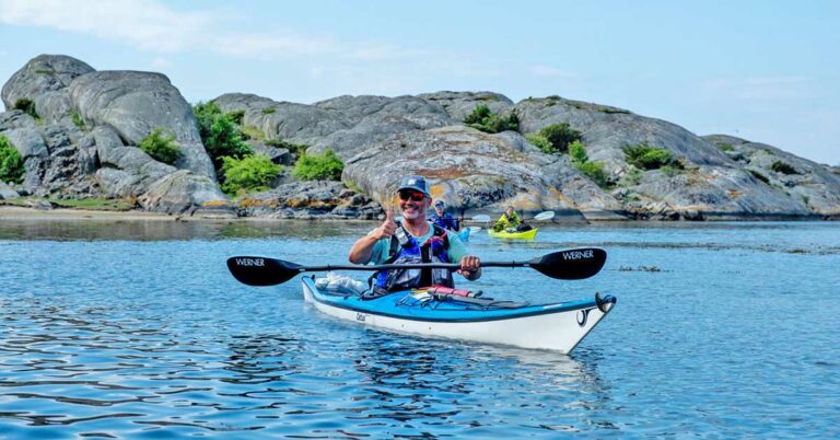
{"label": "pale blue sky with thin clouds above the rocky island", "polygon": [[557,94],[840,164],[840,1],[0,0],[0,81],[39,54],[190,102]]}

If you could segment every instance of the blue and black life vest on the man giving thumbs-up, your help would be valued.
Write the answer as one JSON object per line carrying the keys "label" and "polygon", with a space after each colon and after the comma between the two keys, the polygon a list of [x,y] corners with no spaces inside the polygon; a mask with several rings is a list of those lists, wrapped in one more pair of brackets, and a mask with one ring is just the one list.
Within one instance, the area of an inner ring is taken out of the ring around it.
{"label": "blue and black life vest on the man giving thumbs-up", "polygon": [[[401,224],[398,228],[402,228]],[[417,239],[406,233],[408,242],[399,245],[396,236],[390,238],[389,257],[385,264],[402,263],[451,263],[446,248],[450,247],[450,238],[446,230],[432,224],[432,236],[420,244]],[[440,285],[455,287],[450,269],[390,269],[380,270],[374,274],[374,288],[376,290],[404,290],[417,287]]]}

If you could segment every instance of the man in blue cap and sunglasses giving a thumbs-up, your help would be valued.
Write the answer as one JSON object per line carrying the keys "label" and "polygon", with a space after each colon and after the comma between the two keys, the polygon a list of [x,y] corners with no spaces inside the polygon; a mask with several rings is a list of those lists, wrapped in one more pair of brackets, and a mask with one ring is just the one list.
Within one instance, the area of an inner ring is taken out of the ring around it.
{"label": "man in blue cap and sunglasses giving a thumbs-up", "polygon": [[[432,197],[422,176],[405,177],[399,188],[399,212],[394,219],[388,209],[385,221],[357,240],[350,248],[352,264],[459,263],[458,274],[474,281],[481,276],[480,260],[469,255],[454,234],[425,220]],[[374,274],[374,291],[385,292],[432,285],[455,287],[450,269],[392,269]]]}

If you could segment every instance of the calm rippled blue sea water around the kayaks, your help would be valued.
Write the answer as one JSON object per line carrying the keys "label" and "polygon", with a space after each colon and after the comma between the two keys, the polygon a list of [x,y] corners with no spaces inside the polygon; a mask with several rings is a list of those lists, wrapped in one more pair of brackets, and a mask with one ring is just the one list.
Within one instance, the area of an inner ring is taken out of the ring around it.
{"label": "calm rippled blue sea water around the kayaks", "polygon": [[474,236],[486,260],[607,250],[588,280],[472,283],[616,296],[571,356],[364,328],[305,305],[298,279],[250,288],[224,266],[346,263],[374,225],[3,221],[0,438],[840,436],[840,223]]}

